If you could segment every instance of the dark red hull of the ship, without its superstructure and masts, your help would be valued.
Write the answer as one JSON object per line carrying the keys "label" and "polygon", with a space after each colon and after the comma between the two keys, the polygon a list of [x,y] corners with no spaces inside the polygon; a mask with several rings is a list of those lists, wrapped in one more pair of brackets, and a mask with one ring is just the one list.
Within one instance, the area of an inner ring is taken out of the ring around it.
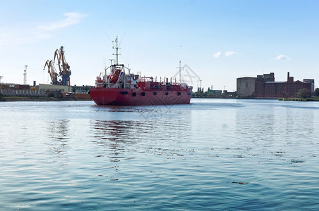
{"label": "dark red hull of the ship, without its superstructure and masts", "polygon": [[91,88],[90,96],[97,105],[152,106],[189,104],[191,90],[143,90],[119,88]]}

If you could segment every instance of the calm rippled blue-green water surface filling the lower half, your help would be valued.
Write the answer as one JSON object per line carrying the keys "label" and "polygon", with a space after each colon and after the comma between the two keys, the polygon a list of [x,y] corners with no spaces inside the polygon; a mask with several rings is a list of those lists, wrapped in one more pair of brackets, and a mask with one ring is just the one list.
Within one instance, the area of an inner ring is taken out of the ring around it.
{"label": "calm rippled blue-green water surface filling the lower half", "polygon": [[0,210],[318,210],[319,103],[0,103]]}

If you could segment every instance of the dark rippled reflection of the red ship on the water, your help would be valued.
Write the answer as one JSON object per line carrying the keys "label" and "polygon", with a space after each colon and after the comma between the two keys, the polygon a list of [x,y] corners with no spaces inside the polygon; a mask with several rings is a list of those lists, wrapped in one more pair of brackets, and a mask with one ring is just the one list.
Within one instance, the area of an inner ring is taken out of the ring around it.
{"label": "dark rippled reflection of the red ship on the water", "polygon": [[[191,124],[180,118],[161,117],[157,121],[92,120],[92,143],[102,149],[98,157],[107,155],[110,162],[132,159],[136,152],[148,153],[150,148],[172,146],[189,141]],[[172,122],[176,124],[172,124]]]}

